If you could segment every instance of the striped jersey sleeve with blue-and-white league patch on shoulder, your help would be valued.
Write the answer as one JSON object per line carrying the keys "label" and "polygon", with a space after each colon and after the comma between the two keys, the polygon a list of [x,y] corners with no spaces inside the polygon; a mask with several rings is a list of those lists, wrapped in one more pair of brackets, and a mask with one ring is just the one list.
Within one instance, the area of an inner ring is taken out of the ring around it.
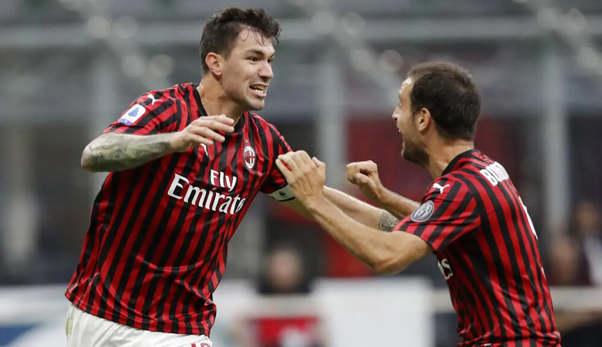
{"label": "striped jersey sleeve with blue-and-white league patch on shoulder", "polygon": [[104,133],[117,132],[120,134],[151,135],[170,132],[176,124],[175,115],[178,106],[169,94],[159,92],[145,93],[129,105]]}

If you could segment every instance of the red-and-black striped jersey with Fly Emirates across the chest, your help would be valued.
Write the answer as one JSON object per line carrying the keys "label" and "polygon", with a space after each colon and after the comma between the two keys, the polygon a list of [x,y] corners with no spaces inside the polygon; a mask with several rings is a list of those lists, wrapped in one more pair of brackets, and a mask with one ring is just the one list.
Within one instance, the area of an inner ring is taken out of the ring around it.
{"label": "red-and-black striped jersey with Fly Emirates across the chest", "polygon": [[[145,93],[105,132],[182,131],[206,116],[196,87]],[[245,113],[222,135],[223,143],[108,174],[66,290],[73,304],[134,328],[209,335],[228,241],[253,198],[292,198],[275,163],[290,147],[272,124]]]}

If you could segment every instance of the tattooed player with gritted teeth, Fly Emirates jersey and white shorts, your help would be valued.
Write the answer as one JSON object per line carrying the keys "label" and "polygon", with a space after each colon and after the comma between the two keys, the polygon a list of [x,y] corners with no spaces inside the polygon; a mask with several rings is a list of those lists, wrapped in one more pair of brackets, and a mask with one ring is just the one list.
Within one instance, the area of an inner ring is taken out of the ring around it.
{"label": "tattooed player with gritted teeth, Fly Emirates jersey and white shorts", "polygon": [[[309,215],[275,164],[290,147],[249,112],[264,107],[280,31],[263,10],[215,14],[200,40],[200,84],[142,94],[84,149],[82,167],[109,173],[66,290],[70,347],[211,345],[212,293],[253,199],[262,192]],[[361,223],[398,222],[326,191]]]}

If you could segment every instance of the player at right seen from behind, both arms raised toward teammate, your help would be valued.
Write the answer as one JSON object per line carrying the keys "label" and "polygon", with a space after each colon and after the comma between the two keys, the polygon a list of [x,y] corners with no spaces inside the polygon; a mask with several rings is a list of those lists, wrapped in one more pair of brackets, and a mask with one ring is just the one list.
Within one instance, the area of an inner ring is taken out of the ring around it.
{"label": "player at right seen from behind, both arms raised toward teammate", "polygon": [[[383,188],[376,164],[347,165],[347,179],[403,218],[382,233],[324,198],[325,165],[305,152],[276,161],[297,200],[350,253],[380,274],[434,253],[458,315],[459,346],[559,346],[538,238],[504,167],[474,148],[480,96],[461,67],[412,69],[393,112],[402,156],[433,177],[420,207]],[[403,337],[400,337],[403,339]]]}

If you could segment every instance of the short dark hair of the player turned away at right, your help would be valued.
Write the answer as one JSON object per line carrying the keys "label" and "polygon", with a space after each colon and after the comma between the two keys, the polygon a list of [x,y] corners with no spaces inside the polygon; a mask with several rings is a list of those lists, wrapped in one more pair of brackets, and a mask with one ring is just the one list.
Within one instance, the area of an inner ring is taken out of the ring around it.
{"label": "short dark hair of the player turned away at right", "polygon": [[450,63],[418,64],[408,73],[412,115],[429,110],[439,135],[452,140],[474,140],[481,98],[467,70]]}

